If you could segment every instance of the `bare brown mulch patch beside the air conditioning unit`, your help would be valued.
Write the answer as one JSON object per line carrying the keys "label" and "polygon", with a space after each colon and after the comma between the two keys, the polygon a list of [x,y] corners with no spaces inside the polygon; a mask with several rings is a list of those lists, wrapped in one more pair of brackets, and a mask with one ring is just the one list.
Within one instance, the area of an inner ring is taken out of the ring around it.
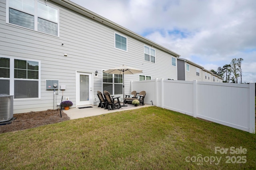
{"label": "bare brown mulch patch beside the air conditioning unit", "polygon": [[62,117],[60,117],[60,111],[58,110],[14,114],[13,117],[16,117],[16,119],[12,123],[0,125],[0,133],[20,131],[70,119],[63,111],[61,113]]}

